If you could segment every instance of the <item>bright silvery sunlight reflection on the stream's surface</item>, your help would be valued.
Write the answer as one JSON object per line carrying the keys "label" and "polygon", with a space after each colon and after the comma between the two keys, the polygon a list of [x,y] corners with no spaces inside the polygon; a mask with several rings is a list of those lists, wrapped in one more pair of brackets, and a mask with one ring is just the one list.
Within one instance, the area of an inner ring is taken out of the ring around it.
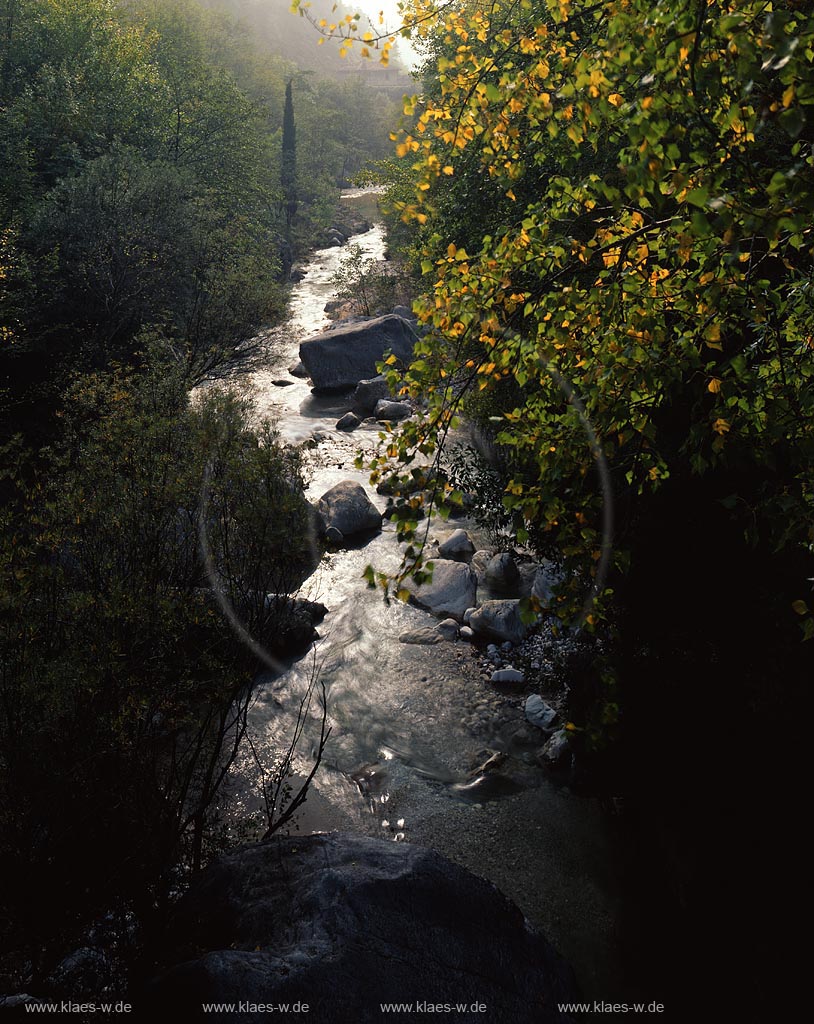
{"label": "bright silvery sunlight reflection on the stream's surface", "polygon": [[[382,258],[381,225],[353,241],[370,257]],[[330,323],[324,308],[343,255],[340,247],[313,255],[294,287],[289,323],[268,336],[267,364],[241,382],[252,391],[258,416],[275,420],[286,440],[316,439],[309,463],[311,500],[339,480],[353,479],[384,509],[386,500],[372,492],[368,474],[353,468],[357,449],[375,442],[378,428],[362,426],[351,436],[337,431],[336,421],[349,408],[347,397],[313,395],[306,380],[290,373],[300,341]],[[290,384],[281,386],[282,381]],[[385,604],[362,580],[369,563],[389,570],[399,559],[394,532],[385,523],[370,543],[326,555],[306,581],[303,596],[322,601],[329,613],[311,655],[261,680],[251,713],[252,743],[231,780],[242,815],[262,810],[259,782],[288,750],[314,674],[325,686],[332,732],[306,809],[298,815],[301,829],[353,827],[379,835],[384,829],[401,840],[409,837],[412,820],[436,812],[439,802],[483,801],[514,792],[510,783],[467,777],[468,763],[483,739],[462,724],[463,681],[433,678],[427,649],[398,642],[402,632],[427,625],[426,613],[397,601]],[[320,716],[314,701],[293,763],[297,778],[310,771]]]}

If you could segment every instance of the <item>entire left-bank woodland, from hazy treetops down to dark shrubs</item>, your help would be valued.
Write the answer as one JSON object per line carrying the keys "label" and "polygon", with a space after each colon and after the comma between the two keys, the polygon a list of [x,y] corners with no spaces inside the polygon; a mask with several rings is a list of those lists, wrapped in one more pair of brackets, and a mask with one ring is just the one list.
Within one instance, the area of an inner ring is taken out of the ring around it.
{"label": "entire left-bank woodland, from hazy treetops down to dark shrubs", "polygon": [[228,6],[2,4],[4,986],[102,909],[157,927],[213,842],[257,663],[209,584],[261,640],[298,626],[258,599],[310,564],[298,456],[188,391],[285,316],[392,98]]}

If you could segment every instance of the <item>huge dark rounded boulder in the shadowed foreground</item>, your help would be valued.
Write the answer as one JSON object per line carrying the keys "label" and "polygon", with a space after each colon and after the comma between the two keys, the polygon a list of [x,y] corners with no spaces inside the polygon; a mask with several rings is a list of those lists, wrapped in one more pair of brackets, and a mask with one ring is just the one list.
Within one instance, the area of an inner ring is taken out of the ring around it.
{"label": "huge dark rounded boulder in the shadowed foreground", "polygon": [[465,1005],[466,1024],[568,1024],[558,1004],[575,997],[570,968],[490,883],[433,850],[336,833],[210,865],[161,962],[145,1001],[179,1021],[205,1020],[202,1004],[260,1022],[252,1005],[304,1002],[317,1022],[380,1024],[382,1004],[421,1000]]}

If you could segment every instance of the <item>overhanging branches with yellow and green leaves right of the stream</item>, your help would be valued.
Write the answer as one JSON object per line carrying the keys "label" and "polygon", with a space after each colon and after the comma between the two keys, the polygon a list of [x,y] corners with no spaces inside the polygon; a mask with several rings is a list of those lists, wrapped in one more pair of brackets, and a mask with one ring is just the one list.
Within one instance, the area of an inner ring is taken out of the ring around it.
{"label": "overhanging branches with yellow and green leaves right of the stream", "polygon": [[598,460],[620,568],[671,475],[708,479],[753,543],[811,552],[814,22],[523,0],[445,7],[432,31],[397,147],[431,328],[409,383],[432,430],[408,426],[398,458],[513,379],[498,440],[534,467],[505,498],[521,537],[596,572]]}

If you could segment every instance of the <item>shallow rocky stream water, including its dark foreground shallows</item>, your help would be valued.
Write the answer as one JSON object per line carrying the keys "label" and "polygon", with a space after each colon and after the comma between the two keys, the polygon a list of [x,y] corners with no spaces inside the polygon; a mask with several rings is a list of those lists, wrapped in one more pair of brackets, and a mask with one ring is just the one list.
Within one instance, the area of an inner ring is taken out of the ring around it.
{"label": "shallow rocky stream water, including its dark foreground shallows", "polygon": [[[379,224],[353,242],[373,258],[383,255]],[[258,415],[276,420],[287,441],[315,438],[308,450],[311,500],[353,479],[383,509],[368,474],[353,468],[356,451],[372,447],[378,430],[363,424],[352,434],[337,431],[347,399],[313,396],[307,381],[289,373],[300,341],[329,323],[324,307],[343,255],[339,247],[313,254],[294,287],[290,321],[267,338],[267,361],[242,380]],[[442,540],[458,525],[473,526],[438,522],[431,536]],[[398,558],[385,523],[363,547],[326,555],[306,581],[302,595],[322,601],[329,613],[313,652],[269,673],[258,688],[252,743],[230,783],[240,813],[261,810],[259,765],[267,769],[288,748],[315,671],[326,686],[332,733],[295,827],[341,828],[438,849],[514,899],[571,962],[586,995],[608,997],[618,975],[618,891],[603,811],[554,785],[528,753],[523,762],[522,752],[512,749],[523,698],[494,692],[469,644],[398,642],[400,633],[431,625],[431,617],[400,602],[386,605],[361,579],[367,564],[388,569]],[[299,777],[310,769],[319,717],[314,702],[295,761]],[[486,778],[473,791],[470,769],[485,749],[517,755],[520,771],[511,782]]]}

